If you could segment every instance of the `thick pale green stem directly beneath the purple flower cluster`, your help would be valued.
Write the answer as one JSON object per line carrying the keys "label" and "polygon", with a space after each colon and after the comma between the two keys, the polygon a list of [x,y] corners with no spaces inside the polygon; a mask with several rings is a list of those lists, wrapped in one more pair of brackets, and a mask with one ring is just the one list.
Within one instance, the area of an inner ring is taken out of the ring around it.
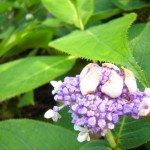
{"label": "thick pale green stem directly beneath the purple flower cluster", "polygon": [[107,130],[106,139],[108,143],[110,144],[111,148],[116,149],[117,145],[110,130]]}

